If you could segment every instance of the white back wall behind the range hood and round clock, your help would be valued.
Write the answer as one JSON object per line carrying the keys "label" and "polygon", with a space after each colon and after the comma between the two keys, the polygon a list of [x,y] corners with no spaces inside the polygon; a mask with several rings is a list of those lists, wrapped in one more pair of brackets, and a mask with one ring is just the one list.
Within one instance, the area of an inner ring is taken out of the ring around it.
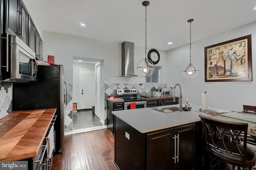
{"label": "white back wall behind the range hood and round clock", "polygon": [[[118,77],[121,75],[121,44],[96,39],[78,37],[43,31],[43,61],[47,61],[48,55],[55,56],[55,64],[64,65],[64,81],[73,81],[73,57],[97,59],[102,61],[101,83],[145,83],[143,77]],[[125,41],[125,40],[124,40]],[[147,49],[149,51],[149,49]],[[160,83],[166,83],[166,51],[158,50],[162,66]],[[134,73],[138,74],[137,63],[145,58],[145,48],[136,47],[134,44]],[[74,87],[73,87],[74,88]],[[101,120],[104,120],[104,86],[101,89]]]}

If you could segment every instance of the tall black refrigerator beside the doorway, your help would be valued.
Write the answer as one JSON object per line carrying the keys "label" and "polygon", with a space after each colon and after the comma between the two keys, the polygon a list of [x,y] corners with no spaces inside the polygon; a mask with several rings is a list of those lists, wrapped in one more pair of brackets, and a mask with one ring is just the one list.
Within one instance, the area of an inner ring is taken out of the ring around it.
{"label": "tall black refrigerator beside the doorway", "polygon": [[[54,154],[62,153],[64,149],[64,86],[62,65],[38,65],[36,82],[13,84],[12,110],[32,110],[57,108]],[[65,83],[66,84],[66,83]],[[66,106],[66,103],[65,103]]]}

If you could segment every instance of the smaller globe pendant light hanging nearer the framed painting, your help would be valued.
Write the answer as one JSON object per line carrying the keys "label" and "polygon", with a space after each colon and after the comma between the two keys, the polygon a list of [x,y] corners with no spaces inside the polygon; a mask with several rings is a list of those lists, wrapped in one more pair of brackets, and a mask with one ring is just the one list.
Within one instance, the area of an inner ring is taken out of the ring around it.
{"label": "smaller globe pendant light hanging nearer the framed painting", "polygon": [[190,64],[186,65],[182,71],[186,78],[194,78],[199,71],[196,65],[191,64],[191,22],[192,21],[194,21],[194,19],[188,20],[188,22],[190,23]]}

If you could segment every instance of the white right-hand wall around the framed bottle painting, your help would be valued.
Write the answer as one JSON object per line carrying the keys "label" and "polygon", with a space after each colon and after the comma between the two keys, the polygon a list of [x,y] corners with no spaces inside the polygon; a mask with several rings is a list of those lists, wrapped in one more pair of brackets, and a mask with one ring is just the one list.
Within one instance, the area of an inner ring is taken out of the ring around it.
{"label": "white right-hand wall around the framed bottle painting", "polygon": [[[202,30],[203,31],[203,30]],[[204,30],[207,31],[207,30]],[[252,34],[252,80],[247,82],[204,82],[204,47]],[[192,33],[193,37],[193,33]],[[202,105],[202,93],[208,93],[208,106],[239,111],[243,104],[256,106],[256,22],[215,35],[191,45],[191,64],[198,66],[195,78],[185,78],[182,70],[189,64],[189,44],[167,52],[167,87],[179,83],[182,86],[183,102]],[[177,86],[178,89],[178,86]],[[178,90],[175,92],[179,95]]]}

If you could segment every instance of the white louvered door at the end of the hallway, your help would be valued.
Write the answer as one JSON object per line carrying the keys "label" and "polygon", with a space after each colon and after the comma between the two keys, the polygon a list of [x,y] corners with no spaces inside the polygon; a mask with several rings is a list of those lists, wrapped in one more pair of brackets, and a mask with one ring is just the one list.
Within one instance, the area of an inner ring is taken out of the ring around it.
{"label": "white louvered door at the end of the hallway", "polygon": [[81,109],[95,106],[95,71],[81,70]]}

